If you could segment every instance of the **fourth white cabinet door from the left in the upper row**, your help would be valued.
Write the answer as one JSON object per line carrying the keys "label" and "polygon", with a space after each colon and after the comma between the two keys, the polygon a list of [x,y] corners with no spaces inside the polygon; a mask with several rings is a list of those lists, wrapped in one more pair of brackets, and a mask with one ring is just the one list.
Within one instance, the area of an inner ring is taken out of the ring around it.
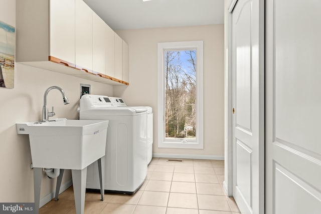
{"label": "fourth white cabinet door from the left in the upper row", "polygon": [[115,32],[107,26],[106,28],[106,71],[105,74],[115,77]]}

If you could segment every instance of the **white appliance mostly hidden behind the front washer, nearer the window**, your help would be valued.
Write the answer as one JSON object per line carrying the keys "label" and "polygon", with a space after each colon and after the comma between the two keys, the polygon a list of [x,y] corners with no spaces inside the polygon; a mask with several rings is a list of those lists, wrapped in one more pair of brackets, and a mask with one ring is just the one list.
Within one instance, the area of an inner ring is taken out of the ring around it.
{"label": "white appliance mostly hidden behind the front washer, nearer the window", "polygon": [[153,113],[152,107],[150,106],[127,106],[124,99],[120,97],[109,97],[113,106],[117,107],[131,107],[134,109],[145,108],[147,110],[147,121],[146,121],[146,135],[147,135],[147,164],[152,159],[152,143],[153,143]]}

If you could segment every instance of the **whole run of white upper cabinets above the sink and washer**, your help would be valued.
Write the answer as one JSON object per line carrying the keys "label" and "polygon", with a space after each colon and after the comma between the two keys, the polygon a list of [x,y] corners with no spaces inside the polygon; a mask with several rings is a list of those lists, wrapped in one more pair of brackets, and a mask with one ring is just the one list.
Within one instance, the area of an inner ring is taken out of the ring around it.
{"label": "whole run of white upper cabinets above the sink and washer", "polygon": [[128,85],[128,45],[83,0],[16,1],[16,29],[16,62]]}

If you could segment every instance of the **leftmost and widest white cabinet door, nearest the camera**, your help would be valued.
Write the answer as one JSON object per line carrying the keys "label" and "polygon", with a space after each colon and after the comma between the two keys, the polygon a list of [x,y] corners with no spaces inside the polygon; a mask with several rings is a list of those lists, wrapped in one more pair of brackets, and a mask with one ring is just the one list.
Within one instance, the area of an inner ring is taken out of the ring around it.
{"label": "leftmost and widest white cabinet door, nearest the camera", "polygon": [[75,64],[75,0],[50,1],[49,55]]}

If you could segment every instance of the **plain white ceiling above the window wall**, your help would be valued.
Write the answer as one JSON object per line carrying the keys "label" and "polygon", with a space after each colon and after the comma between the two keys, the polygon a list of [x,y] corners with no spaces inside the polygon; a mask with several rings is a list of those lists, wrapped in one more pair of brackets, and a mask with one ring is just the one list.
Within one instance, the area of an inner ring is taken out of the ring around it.
{"label": "plain white ceiling above the window wall", "polygon": [[224,23],[224,0],[84,0],[113,30]]}

